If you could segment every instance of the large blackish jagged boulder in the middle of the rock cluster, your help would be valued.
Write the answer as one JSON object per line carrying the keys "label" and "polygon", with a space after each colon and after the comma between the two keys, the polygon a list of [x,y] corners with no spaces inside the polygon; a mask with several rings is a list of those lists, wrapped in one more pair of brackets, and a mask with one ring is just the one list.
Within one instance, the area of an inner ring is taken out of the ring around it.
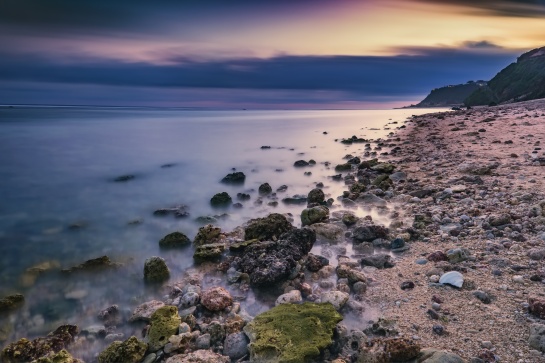
{"label": "large blackish jagged boulder in the middle of the rock cluster", "polygon": [[239,268],[250,275],[254,285],[277,283],[286,279],[292,269],[310,252],[316,233],[302,228],[292,229],[277,241],[265,241],[248,246],[241,257]]}

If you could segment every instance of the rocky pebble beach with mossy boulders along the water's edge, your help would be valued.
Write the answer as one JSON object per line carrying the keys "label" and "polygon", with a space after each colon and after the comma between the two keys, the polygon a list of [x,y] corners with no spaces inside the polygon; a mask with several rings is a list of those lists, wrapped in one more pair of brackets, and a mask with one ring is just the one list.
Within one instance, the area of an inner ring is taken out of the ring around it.
{"label": "rocky pebble beach with mossy boulders along the water's edge", "polygon": [[[319,183],[292,197],[300,215],[170,233],[161,248],[197,264],[173,281],[150,257],[142,278],[162,299],[103,307],[96,326],[10,343],[1,361],[545,361],[545,101],[392,125],[388,139],[337,140],[350,154],[328,182],[342,195]],[[5,297],[0,313],[23,301]]]}

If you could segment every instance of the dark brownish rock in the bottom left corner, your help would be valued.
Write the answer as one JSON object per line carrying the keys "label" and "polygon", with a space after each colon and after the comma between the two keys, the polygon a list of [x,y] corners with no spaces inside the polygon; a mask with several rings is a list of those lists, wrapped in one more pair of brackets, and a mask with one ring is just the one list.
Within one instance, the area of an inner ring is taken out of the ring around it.
{"label": "dark brownish rock in the bottom left corner", "polygon": [[54,355],[74,341],[79,334],[75,325],[62,325],[46,337],[32,341],[21,338],[6,346],[0,355],[5,363],[32,362],[41,357]]}

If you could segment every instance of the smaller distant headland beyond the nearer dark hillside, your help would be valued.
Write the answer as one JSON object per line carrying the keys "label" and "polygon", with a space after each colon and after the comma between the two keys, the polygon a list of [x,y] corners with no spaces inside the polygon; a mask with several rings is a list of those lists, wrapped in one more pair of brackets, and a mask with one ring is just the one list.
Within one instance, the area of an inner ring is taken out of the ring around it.
{"label": "smaller distant headland beyond the nearer dark hillside", "polygon": [[485,81],[469,81],[465,84],[435,88],[419,104],[412,107],[460,106],[469,95],[485,86]]}

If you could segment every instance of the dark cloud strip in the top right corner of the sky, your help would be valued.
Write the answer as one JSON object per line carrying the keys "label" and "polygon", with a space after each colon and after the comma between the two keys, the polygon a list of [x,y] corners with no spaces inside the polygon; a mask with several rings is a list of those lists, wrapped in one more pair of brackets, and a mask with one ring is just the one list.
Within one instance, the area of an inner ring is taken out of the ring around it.
{"label": "dark cloud strip in the top right corner of the sky", "polygon": [[[437,5],[436,0],[417,0]],[[491,15],[536,18],[545,16],[545,0],[443,0],[441,4],[485,10]]]}

